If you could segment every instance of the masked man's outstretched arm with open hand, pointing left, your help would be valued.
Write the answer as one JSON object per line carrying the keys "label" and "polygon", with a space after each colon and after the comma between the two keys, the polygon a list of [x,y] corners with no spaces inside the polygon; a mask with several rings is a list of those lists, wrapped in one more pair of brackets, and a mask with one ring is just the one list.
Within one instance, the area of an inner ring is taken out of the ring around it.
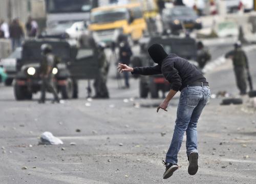
{"label": "masked man's outstretched arm with open hand, pointing left", "polygon": [[161,66],[146,66],[146,67],[130,67],[126,64],[118,64],[117,70],[119,70],[120,73],[122,72],[132,72],[132,74],[139,74],[139,75],[157,75],[161,74]]}

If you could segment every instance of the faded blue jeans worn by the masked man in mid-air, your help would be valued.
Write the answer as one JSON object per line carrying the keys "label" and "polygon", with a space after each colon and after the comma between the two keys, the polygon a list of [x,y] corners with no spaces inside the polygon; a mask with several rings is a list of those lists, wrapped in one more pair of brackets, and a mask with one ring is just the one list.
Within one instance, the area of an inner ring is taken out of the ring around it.
{"label": "faded blue jeans worn by the masked man in mid-air", "polygon": [[180,151],[184,132],[187,136],[187,156],[191,152],[198,152],[197,122],[209,99],[210,88],[208,86],[191,86],[181,90],[173,139],[166,153],[166,163],[178,163],[177,155]]}

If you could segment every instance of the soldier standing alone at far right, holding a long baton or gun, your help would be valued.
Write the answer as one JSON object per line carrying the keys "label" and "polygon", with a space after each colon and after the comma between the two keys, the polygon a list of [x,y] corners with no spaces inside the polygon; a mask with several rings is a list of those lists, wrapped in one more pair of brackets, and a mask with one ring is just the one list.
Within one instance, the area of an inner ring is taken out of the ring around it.
{"label": "soldier standing alone at far right, holding a long baton or gun", "polygon": [[240,41],[234,44],[234,50],[228,52],[225,55],[225,58],[232,59],[234,75],[236,76],[236,82],[240,90],[240,95],[246,95],[246,74],[249,74],[249,64]]}

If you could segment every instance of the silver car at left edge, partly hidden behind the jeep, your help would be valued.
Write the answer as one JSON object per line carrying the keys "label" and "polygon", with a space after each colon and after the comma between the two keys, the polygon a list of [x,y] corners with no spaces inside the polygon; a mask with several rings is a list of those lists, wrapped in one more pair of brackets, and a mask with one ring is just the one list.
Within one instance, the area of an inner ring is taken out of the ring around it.
{"label": "silver car at left edge, partly hidden behind the jeep", "polygon": [[22,48],[16,48],[16,50],[10,54],[7,58],[1,59],[0,65],[5,68],[5,71],[8,75],[7,79],[5,80],[5,85],[10,86],[12,85],[12,81],[15,78],[17,73],[16,65],[17,62],[20,61],[22,57]]}

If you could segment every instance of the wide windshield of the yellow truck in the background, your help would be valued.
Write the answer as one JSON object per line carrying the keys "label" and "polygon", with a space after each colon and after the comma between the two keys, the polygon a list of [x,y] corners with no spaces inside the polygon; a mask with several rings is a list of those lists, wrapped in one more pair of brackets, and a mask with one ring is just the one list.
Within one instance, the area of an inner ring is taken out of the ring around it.
{"label": "wide windshield of the yellow truck in the background", "polygon": [[91,21],[94,24],[126,20],[129,17],[127,9],[120,8],[114,10],[95,11],[91,14]]}

